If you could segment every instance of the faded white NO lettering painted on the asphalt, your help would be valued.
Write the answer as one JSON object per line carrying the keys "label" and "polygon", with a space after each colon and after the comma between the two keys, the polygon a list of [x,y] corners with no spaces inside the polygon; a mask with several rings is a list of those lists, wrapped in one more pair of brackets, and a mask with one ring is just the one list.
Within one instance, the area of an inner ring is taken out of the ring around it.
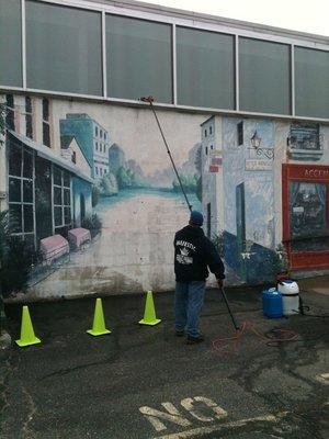
{"label": "faded white NO lettering painted on the asphalt", "polygon": [[[227,417],[227,412],[218,406],[213,399],[204,396],[188,397],[181,401],[181,406],[188,412],[190,418],[182,415],[182,413],[171,403],[161,403],[166,409],[158,410],[148,406],[139,407],[139,412],[151,424],[156,431],[163,431],[167,426],[163,423],[174,424],[180,427],[189,427],[192,425],[193,419],[202,423],[212,423],[216,419]],[[192,418],[191,418],[192,417]]]}

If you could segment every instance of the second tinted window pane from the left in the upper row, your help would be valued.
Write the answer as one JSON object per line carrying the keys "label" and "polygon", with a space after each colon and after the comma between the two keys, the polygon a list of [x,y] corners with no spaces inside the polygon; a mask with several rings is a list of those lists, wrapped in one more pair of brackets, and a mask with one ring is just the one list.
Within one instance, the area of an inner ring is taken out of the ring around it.
{"label": "second tinted window pane from the left in the upper row", "polygon": [[101,14],[26,1],[27,86],[102,94]]}

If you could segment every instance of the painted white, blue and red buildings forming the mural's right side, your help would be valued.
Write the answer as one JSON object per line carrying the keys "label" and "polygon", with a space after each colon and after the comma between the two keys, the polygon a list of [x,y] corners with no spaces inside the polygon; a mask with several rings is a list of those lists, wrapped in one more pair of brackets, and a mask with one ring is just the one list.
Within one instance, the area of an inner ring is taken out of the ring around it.
{"label": "painted white, blue and red buildings forming the mural's right side", "polygon": [[219,116],[201,126],[206,233],[229,281],[328,269],[329,167],[317,164],[329,162],[328,127]]}

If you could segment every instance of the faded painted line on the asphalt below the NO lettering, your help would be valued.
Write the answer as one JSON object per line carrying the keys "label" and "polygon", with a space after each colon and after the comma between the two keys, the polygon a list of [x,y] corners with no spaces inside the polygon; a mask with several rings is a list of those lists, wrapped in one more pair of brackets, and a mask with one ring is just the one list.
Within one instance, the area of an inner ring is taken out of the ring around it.
{"label": "faded painted line on the asphalt below the NO lettering", "polygon": [[229,429],[229,428],[237,428],[237,427],[245,427],[248,424],[252,423],[277,423],[281,420],[283,417],[287,415],[287,412],[279,412],[276,415],[264,415],[264,416],[256,416],[253,418],[246,418],[246,419],[239,419],[239,420],[234,420],[220,425],[214,425],[214,426],[208,426],[208,427],[198,427],[198,428],[193,428],[191,430],[185,430],[181,432],[174,432],[170,435],[164,435],[164,436],[156,436],[154,439],[184,439],[184,438],[195,438],[200,435],[205,435],[205,434],[211,434],[214,431],[219,431],[224,429]]}

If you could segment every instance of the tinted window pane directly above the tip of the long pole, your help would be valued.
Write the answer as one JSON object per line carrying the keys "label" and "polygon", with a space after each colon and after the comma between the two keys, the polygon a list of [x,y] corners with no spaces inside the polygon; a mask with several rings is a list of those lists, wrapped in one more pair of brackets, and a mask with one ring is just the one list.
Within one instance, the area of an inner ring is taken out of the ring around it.
{"label": "tinted window pane directly above the tip of the long pole", "polygon": [[107,93],[172,102],[171,26],[106,15]]}

